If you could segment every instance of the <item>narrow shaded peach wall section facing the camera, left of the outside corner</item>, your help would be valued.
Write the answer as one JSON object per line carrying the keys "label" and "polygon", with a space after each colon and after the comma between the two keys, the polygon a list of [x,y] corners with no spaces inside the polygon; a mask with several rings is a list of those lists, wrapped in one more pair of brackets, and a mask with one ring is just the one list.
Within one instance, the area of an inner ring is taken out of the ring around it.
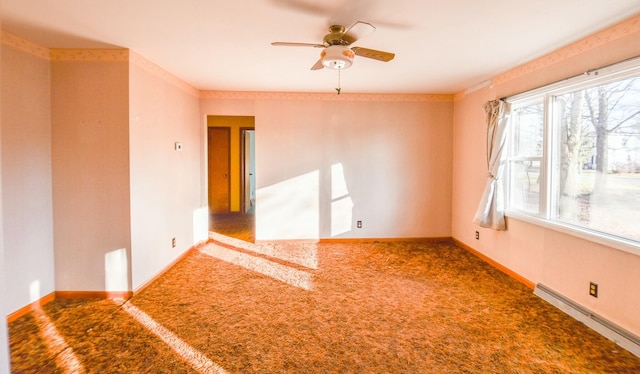
{"label": "narrow shaded peach wall section facing the camera, left of the outside corner", "polygon": [[[57,291],[104,291],[108,259],[129,257],[127,56],[126,51],[52,50]],[[129,282],[120,288],[130,288]]]}

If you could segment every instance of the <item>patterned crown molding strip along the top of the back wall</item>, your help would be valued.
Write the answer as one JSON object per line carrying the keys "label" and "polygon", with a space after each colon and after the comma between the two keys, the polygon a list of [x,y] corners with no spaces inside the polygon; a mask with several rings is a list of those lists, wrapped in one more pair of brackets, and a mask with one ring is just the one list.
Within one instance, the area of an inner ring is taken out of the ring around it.
{"label": "patterned crown molding strip along the top of the back wall", "polygon": [[200,91],[201,99],[314,100],[314,101],[425,101],[453,102],[448,94],[333,94],[314,92]]}

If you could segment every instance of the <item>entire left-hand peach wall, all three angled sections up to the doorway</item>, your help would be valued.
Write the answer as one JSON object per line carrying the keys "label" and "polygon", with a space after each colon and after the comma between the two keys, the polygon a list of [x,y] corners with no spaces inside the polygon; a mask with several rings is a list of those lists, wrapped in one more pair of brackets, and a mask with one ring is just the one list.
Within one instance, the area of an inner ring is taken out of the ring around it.
{"label": "entire left-hand peach wall, all three angled sections up to the doorway", "polygon": [[133,290],[206,240],[197,90],[125,49],[2,44],[3,312]]}

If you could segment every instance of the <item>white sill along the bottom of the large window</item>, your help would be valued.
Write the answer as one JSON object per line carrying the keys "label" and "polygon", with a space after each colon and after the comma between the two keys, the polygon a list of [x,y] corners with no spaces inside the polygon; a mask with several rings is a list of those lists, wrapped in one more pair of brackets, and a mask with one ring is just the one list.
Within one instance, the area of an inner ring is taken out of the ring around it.
{"label": "white sill along the bottom of the large window", "polygon": [[571,235],[576,238],[588,240],[590,242],[611,247],[622,252],[640,256],[640,243],[633,240],[618,238],[612,235],[604,235],[594,231],[582,229],[577,226],[532,217],[517,211],[507,211],[505,215],[511,219],[531,223],[537,226],[542,226],[544,228]]}

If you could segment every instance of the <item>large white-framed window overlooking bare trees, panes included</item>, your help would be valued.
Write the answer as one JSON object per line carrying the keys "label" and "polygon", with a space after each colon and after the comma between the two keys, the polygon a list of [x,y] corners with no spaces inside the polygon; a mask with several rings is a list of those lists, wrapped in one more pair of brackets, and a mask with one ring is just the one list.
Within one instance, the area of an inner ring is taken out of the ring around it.
{"label": "large white-framed window overlooking bare trees, panes included", "polygon": [[507,215],[640,247],[640,60],[509,102]]}

